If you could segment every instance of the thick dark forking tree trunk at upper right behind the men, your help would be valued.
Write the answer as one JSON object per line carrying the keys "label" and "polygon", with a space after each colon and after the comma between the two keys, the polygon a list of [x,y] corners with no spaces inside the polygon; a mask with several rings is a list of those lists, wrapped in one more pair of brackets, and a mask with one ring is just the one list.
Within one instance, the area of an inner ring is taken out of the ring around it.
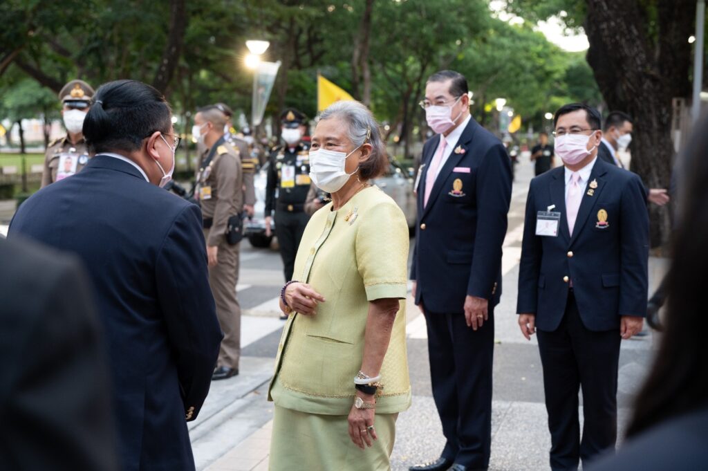
{"label": "thick dark forking tree trunk at upper right behind the men", "polygon": [[[668,188],[673,167],[672,98],[686,96],[695,1],[658,2],[658,40],[635,1],[586,0],[588,64],[610,110],[634,120],[632,171],[648,188]],[[668,211],[651,205],[651,245],[668,241]]]}

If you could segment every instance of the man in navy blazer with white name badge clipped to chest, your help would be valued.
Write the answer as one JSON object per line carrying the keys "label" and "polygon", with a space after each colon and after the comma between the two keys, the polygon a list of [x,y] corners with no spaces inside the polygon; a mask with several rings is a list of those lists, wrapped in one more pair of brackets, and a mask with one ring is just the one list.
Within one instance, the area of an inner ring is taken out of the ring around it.
{"label": "man in navy blazer with white name badge clipped to chest", "polygon": [[556,471],[615,448],[619,344],[646,314],[649,217],[639,176],[598,159],[597,110],[566,105],[554,126],[564,166],[530,184],[517,312],[526,339],[538,330]]}

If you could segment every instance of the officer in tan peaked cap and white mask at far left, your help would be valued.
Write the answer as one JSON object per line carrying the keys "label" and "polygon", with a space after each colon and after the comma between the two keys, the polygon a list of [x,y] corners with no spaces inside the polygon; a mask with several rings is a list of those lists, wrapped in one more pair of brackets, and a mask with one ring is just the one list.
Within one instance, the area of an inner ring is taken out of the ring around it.
{"label": "officer in tan peaked cap and white mask at far left", "polygon": [[47,147],[42,188],[76,174],[88,163],[89,151],[82,129],[93,93],[91,86],[83,80],[72,80],[59,91],[59,100],[64,104],[62,117],[67,135]]}

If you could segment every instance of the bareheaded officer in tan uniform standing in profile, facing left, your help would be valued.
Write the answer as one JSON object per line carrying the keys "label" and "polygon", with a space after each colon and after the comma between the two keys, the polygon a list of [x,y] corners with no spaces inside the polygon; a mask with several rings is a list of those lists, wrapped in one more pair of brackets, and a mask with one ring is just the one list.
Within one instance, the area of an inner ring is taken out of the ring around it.
{"label": "bareheaded officer in tan uniform standing in profile, facing left", "polygon": [[239,374],[241,356],[241,306],[236,300],[239,244],[229,244],[226,233],[229,218],[244,211],[244,174],[239,151],[224,137],[226,115],[209,106],[195,115],[194,123],[193,136],[201,137],[206,147],[197,178],[197,195],[207,241],[209,284],[224,331],[212,380],[223,380]]}

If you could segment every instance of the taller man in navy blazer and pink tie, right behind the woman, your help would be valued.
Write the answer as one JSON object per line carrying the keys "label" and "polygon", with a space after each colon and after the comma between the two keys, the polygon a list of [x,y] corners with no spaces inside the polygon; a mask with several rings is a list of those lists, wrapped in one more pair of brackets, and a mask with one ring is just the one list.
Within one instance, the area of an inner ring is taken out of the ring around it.
{"label": "taller man in navy blazer and pink tie, right behind the woman", "polygon": [[[493,310],[511,199],[503,144],[469,115],[467,80],[428,79],[428,124],[416,184],[418,227],[411,280],[426,317],[433,397],[447,443],[411,470],[485,470],[491,446]],[[452,468],[450,468],[452,466]]]}

